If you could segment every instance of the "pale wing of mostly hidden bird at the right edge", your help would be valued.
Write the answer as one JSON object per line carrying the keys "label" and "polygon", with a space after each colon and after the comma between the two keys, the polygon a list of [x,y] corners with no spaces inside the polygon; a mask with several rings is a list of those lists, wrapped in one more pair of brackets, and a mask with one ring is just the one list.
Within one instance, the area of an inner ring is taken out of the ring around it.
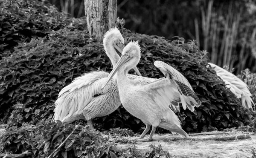
{"label": "pale wing of mostly hidden bird at the right edge", "polygon": [[251,98],[252,94],[250,93],[247,84],[227,70],[222,69],[213,63],[208,64],[215,70],[216,74],[224,80],[226,87],[230,88],[230,91],[233,92],[237,98],[241,98],[241,105],[252,110],[252,105],[255,106],[255,104],[253,103]]}

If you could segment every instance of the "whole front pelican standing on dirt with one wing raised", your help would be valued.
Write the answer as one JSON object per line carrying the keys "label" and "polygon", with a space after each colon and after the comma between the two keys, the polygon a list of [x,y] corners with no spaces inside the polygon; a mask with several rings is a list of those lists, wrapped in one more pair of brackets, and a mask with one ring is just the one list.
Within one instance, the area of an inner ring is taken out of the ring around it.
{"label": "whole front pelican standing on dirt with one wing raised", "polygon": [[[192,86],[180,72],[161,61],[155,61],[154,65],[163,72],[164,78],[131,80],[127,77],[127,73],[139,61],[140,46],[138,42],[128,43],[102,89],[113,77],[116,78],[122,105],[131,115],[139,118],[146,125],[138,141],[152,141],[157,126],[188,137],[188,134],[181,129],[180,121],[171,106],[177,107],[181,102],[183,109],[188,107],[194,111],[195,106],[199,107],[201,101]],[[151,125],[152,130],[148,139],[143,139]]]}

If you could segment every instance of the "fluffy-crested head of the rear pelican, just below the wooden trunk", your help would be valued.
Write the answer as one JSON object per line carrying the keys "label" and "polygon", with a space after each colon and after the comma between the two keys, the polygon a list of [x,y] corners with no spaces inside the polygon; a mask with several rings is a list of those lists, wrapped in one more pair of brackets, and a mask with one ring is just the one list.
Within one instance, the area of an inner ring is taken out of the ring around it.
{"label": "fluffy-crested head of the rear pelican, just below the wooden trunk", "polygon": [[[112,45],[120,53],[122,53],[122,50],[125,47],[125,40],[116,27],[109,29],[104,35],[103,46],[105,50],[107,50],[108,45]],[[109,52],[106,52],[106,54],[108,57],[111,55]]]}

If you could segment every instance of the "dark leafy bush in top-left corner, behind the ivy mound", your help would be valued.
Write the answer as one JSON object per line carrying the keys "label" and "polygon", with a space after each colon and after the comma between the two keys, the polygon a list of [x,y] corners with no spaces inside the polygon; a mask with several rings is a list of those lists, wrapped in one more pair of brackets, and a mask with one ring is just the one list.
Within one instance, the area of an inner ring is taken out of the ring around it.
{"label": "dark leafy bush in top-left corner, behind the ivy mound", "polygon": [[11,55],[18,43],[45,37],[69,21],[54,6],[38,0],[1,0],[0,8],[0,59]]}

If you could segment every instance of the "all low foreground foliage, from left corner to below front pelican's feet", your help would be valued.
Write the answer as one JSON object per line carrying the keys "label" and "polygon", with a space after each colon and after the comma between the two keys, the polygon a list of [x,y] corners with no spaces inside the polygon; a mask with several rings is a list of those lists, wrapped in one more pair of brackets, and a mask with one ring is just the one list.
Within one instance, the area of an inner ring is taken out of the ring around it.
{"label": "all low foreground foliage, from left corner to below front pelican's feet", "polygon": [[[129,144],[128,138],[122,137],[134,134],[131,130],[111,129],[104,137],[101,132],[88,131],[87,126],[64,125],[61,121],[50,123],[43,119],[36,126],[11,127],[0,136],[0,152],[22,153],[27,150],[32,152],[32,158],[171,158],[161,145],[149,145],[149,150],[143,152],[135,145],[125,150],[113,145],[110,137],[115,137],[115,142],[120,140],[121,144]],[[133,140],[132,144],[135,142]]]}

